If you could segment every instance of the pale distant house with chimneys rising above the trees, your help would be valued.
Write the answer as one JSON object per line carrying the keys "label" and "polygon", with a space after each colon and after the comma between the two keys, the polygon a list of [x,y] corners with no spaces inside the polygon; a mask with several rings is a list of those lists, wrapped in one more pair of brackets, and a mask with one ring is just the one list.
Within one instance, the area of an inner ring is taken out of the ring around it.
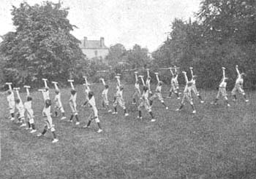
{"label": "pale distant house with chimneys rising above the trees", "polygon": [[104,59],[108,55],[108,47],[105,46],[105,41],[103,37],[97,40],[88,40],[87,37],[83,37],[81,40],[80,48],[83,54],[89,59],[93,57],[98,57]]}

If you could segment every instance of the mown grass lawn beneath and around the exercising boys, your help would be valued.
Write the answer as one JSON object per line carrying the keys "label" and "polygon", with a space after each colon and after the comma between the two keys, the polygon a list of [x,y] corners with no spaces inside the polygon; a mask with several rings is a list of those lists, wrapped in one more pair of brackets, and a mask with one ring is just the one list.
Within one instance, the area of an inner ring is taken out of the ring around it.
{"label": "mown grass lawn beneath and around the exercising boys", "polygon": [[[118,108],[113,116],[100,110],[103,86],[94,84],[103,132],[97,124],[83,129],[89,110],[80,108],[81,124],[67,122],[70,108],[69,89],[61,90],[67,120],[53,117],[59,143],[51,143],[51,132],[38,138],[37,134],[18,127],[4,116],[8,114],[7,100],[1,96],[1,161],[0,178],[256,178],[256,93],[249,92],[249,103],[238,95],[238,102],[223,100],[211,105],[217,91],[202,91],[206,103],[195,98],[197,114],[187,104],[183,111],[173,95],[165,99],[166,110],[159,101],[153,104],[156,122],[132,105],[133,85],[125,85],[124,99],[129,116]],[[83,103],[83,87],[77,86],[78,104]],[[113,84],[109,97],[113,99]],[[152,88],[154,89],[154,88]],[[164,96],[167,95],[164,87]],[[25,93],[21,94],[25,101]],[[35,124],[42,131],[42,94],[32,92]],[[50,90],[51,98],[54,91]],[[52,107],[53,109],[53,107]]]}

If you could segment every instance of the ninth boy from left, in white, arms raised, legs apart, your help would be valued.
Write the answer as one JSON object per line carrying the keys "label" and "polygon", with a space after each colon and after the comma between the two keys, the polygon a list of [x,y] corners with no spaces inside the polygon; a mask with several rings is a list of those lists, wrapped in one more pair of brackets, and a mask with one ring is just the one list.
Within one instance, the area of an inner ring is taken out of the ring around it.
{"label": "ninth boy from left, in white, arms raised, legs apart", "polygon": [[116,95],[115,95],[115,100],[113,103],[113,107],[114,107],[115,111],[113,111],[112,114],[117,114],[116,107],[119,105],[119,106],[121,106],[121,108],[124,109],[124,116],[129,116],[129,114],[127,113],[127,108],[124,105],[124,98],[123,98],[124,87],[121,86],[120,76],[116,76],[116,80],[117,80]]}

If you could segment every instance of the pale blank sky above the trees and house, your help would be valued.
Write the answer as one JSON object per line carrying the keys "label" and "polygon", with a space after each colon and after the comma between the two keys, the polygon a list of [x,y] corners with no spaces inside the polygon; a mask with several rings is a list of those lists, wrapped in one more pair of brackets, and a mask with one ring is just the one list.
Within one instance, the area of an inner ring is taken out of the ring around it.
{"label": "pale blank sky above the trees and house", "polygon": [[[0,0],[0,35],[15,31],[10,9],[23,1],[30,5],[42,0]],[[59,0],[52,0],[58,2]],[[199,10],[200,0],[61,0],[69,7],[68,19],[78,26],[71,33],[78,39],[105,38],[105,44],[121,43],[131,49],[139,44],[153,52],[167,38],[171,23],[178,17],[188,20]]]}

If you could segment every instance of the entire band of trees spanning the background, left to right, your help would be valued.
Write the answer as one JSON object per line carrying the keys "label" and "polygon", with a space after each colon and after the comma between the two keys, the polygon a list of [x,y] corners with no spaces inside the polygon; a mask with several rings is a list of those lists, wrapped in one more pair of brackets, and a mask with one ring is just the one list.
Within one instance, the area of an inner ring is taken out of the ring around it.
{"label": "entire band of trees spanning the background, left to right", "polygon": [[[132,71],[138,69],[151,76],[159,68],[180,66],[189,71],[193,66],[198,76],[197,86],[215,89],[222,78],[221,67],[227,68],[227,87],[236,80],[235,66],[246,73],[246,89],[256,88],[256,2],[203,0],[195,21],[173,21],[167,40],[149,55],[148,49],[135,44],[132,49],[116,44],[102,63],[100,59],[88,60],[79,48],[78,39],[70,31],[76,28],[67,19],[68,9],[61,3],[50,1],[34,6],[26,2],[12,7],[15,31],[2,36],[0,44],[1,84],[12,81],[15,85],[42,85],[42,77],[67,84],[73,78],[79,83],[82,76],[97,81],[100,76],[113,79],[122,73],[127,82],[134,81]],[[97,73],[97,71],[108,73]],[[160,79],[170,82],[170,72],[161,70]],[[189,73],[188,73],[189,75]],[[180,81],[184,79],[180,75]],[[153,80],[154,81],[154,80]]]}

